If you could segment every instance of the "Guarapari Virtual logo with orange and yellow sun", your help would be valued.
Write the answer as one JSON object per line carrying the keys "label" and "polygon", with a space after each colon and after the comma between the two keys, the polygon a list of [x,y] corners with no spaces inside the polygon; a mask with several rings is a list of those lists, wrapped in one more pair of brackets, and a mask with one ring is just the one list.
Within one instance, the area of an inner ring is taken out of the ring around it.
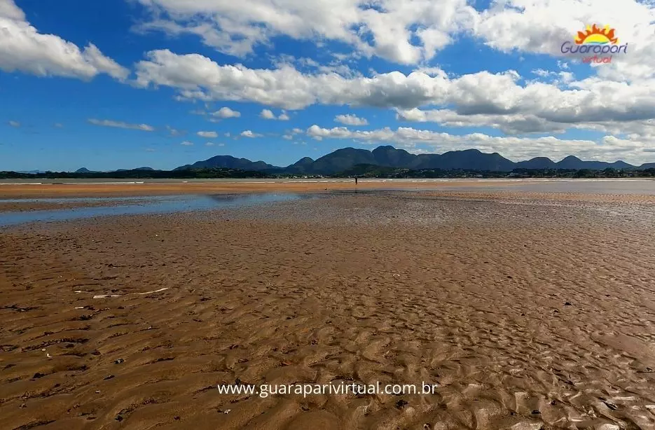
{"label": "Guarapari Virtual logo with orange and yellow sun", "polygon": [[560,48],[563,54],[581,55],[584,63],[611,63],[614,55],[626,54],[628,43],[619,45],[616,30],[597,25],[587,26],[584,32],[578,32],[573,42],[566,41]]}

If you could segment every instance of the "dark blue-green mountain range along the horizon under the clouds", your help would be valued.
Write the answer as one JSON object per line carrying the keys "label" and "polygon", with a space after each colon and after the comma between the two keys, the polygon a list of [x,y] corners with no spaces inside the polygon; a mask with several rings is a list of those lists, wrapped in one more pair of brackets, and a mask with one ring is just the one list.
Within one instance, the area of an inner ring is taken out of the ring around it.
{"label": "dark blue-green mountain range along the horizon under the clouds", "polygon": [[614,169],[648,169],[655,168],[655,163],[641,166],[630,165],[627,162],[583,161],[574,155],[554,162],[550,158],[536,157],[531,160],[513,162],[499,153],[483,153],[477,149],[464,151],[448,151],[443,154],[411,154],[404,149],[393,146],[378,146],[373,151],[357,148],[342,148],[322,156],[317,160],[305,157],[287,167],[277,167],[263,161],[251,161],[247,158],[235,158],[230,155],[216,155],[207,160],[191,165],[177,167],[175,170],[186,169],[241,169],[258,172],[287,174],[336,174],[355,165],[374,165],[380,167],[395,167],[401,169],[464,169],[492,172],[511,172],[513,169],[590,169],[602,170],[608,167]]}

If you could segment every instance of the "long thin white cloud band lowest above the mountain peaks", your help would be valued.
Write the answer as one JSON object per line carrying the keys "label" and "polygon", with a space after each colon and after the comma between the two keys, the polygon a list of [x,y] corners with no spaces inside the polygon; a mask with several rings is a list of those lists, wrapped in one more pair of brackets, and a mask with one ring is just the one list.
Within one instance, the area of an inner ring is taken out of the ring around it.
{"label": "long thin white cloud band lowest above the mountain peaks", "polygon": [[622,159],[635,164],[644,162],[642,141],[618,139],[607,136],[600,141],[558,139],[556,137],[492,137],[483,133],[464,135],[434,132],[432,130],[416,130],[411,127],[398,127],[396,130],[385,127],[378,130],[350,130],[347,127],[324,128],[312,125],[306,130],[312,139],[345,139],[359,141],[363,144],[394,144],[418,153],[422,150],[418,145],[428,146],[432,152],[443,153],[476,148],[486,153],[497,152],[514,161],[528,160],[537,156],[546,156],[560,160],[575,153],[586,160]]}

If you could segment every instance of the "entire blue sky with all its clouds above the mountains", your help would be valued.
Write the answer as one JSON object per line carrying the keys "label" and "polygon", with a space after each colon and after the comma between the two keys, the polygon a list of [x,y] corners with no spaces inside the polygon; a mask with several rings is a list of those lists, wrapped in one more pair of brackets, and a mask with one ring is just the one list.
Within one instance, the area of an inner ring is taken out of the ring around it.
{"label": "entire blue sky with all its clouds above the mountains", "polygon": [[[380,144],[655,161],[650,6],[196,3],[0,0],[0,169],[289,165]],[[588,16],[629,55],[592,67],[558,52]]]}

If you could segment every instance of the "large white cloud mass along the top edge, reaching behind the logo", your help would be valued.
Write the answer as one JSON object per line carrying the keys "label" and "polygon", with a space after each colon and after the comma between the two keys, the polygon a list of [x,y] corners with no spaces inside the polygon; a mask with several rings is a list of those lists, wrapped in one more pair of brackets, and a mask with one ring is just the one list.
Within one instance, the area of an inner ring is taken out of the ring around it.
{"label": "large white cloud mass along the top edge, reaching behind the logo", "polygon": [[[650,1],[497,0],[476,11],[466,0],[137,0],[151,12],[142,31],[194,34],[223,53],[243,56],[257,45],[275,45],[276,36],[349,45],[364,57],[397,64],[422,64],[464,36],[474,36],[503,52],[564,57],[563,41],[593,22],[611,24],[631,55],[603,67],[608,77],[653,76],[655,12]],[[312,64],[300,58],[297,64]],[[324,69],[323,71],[326,71]]]}

